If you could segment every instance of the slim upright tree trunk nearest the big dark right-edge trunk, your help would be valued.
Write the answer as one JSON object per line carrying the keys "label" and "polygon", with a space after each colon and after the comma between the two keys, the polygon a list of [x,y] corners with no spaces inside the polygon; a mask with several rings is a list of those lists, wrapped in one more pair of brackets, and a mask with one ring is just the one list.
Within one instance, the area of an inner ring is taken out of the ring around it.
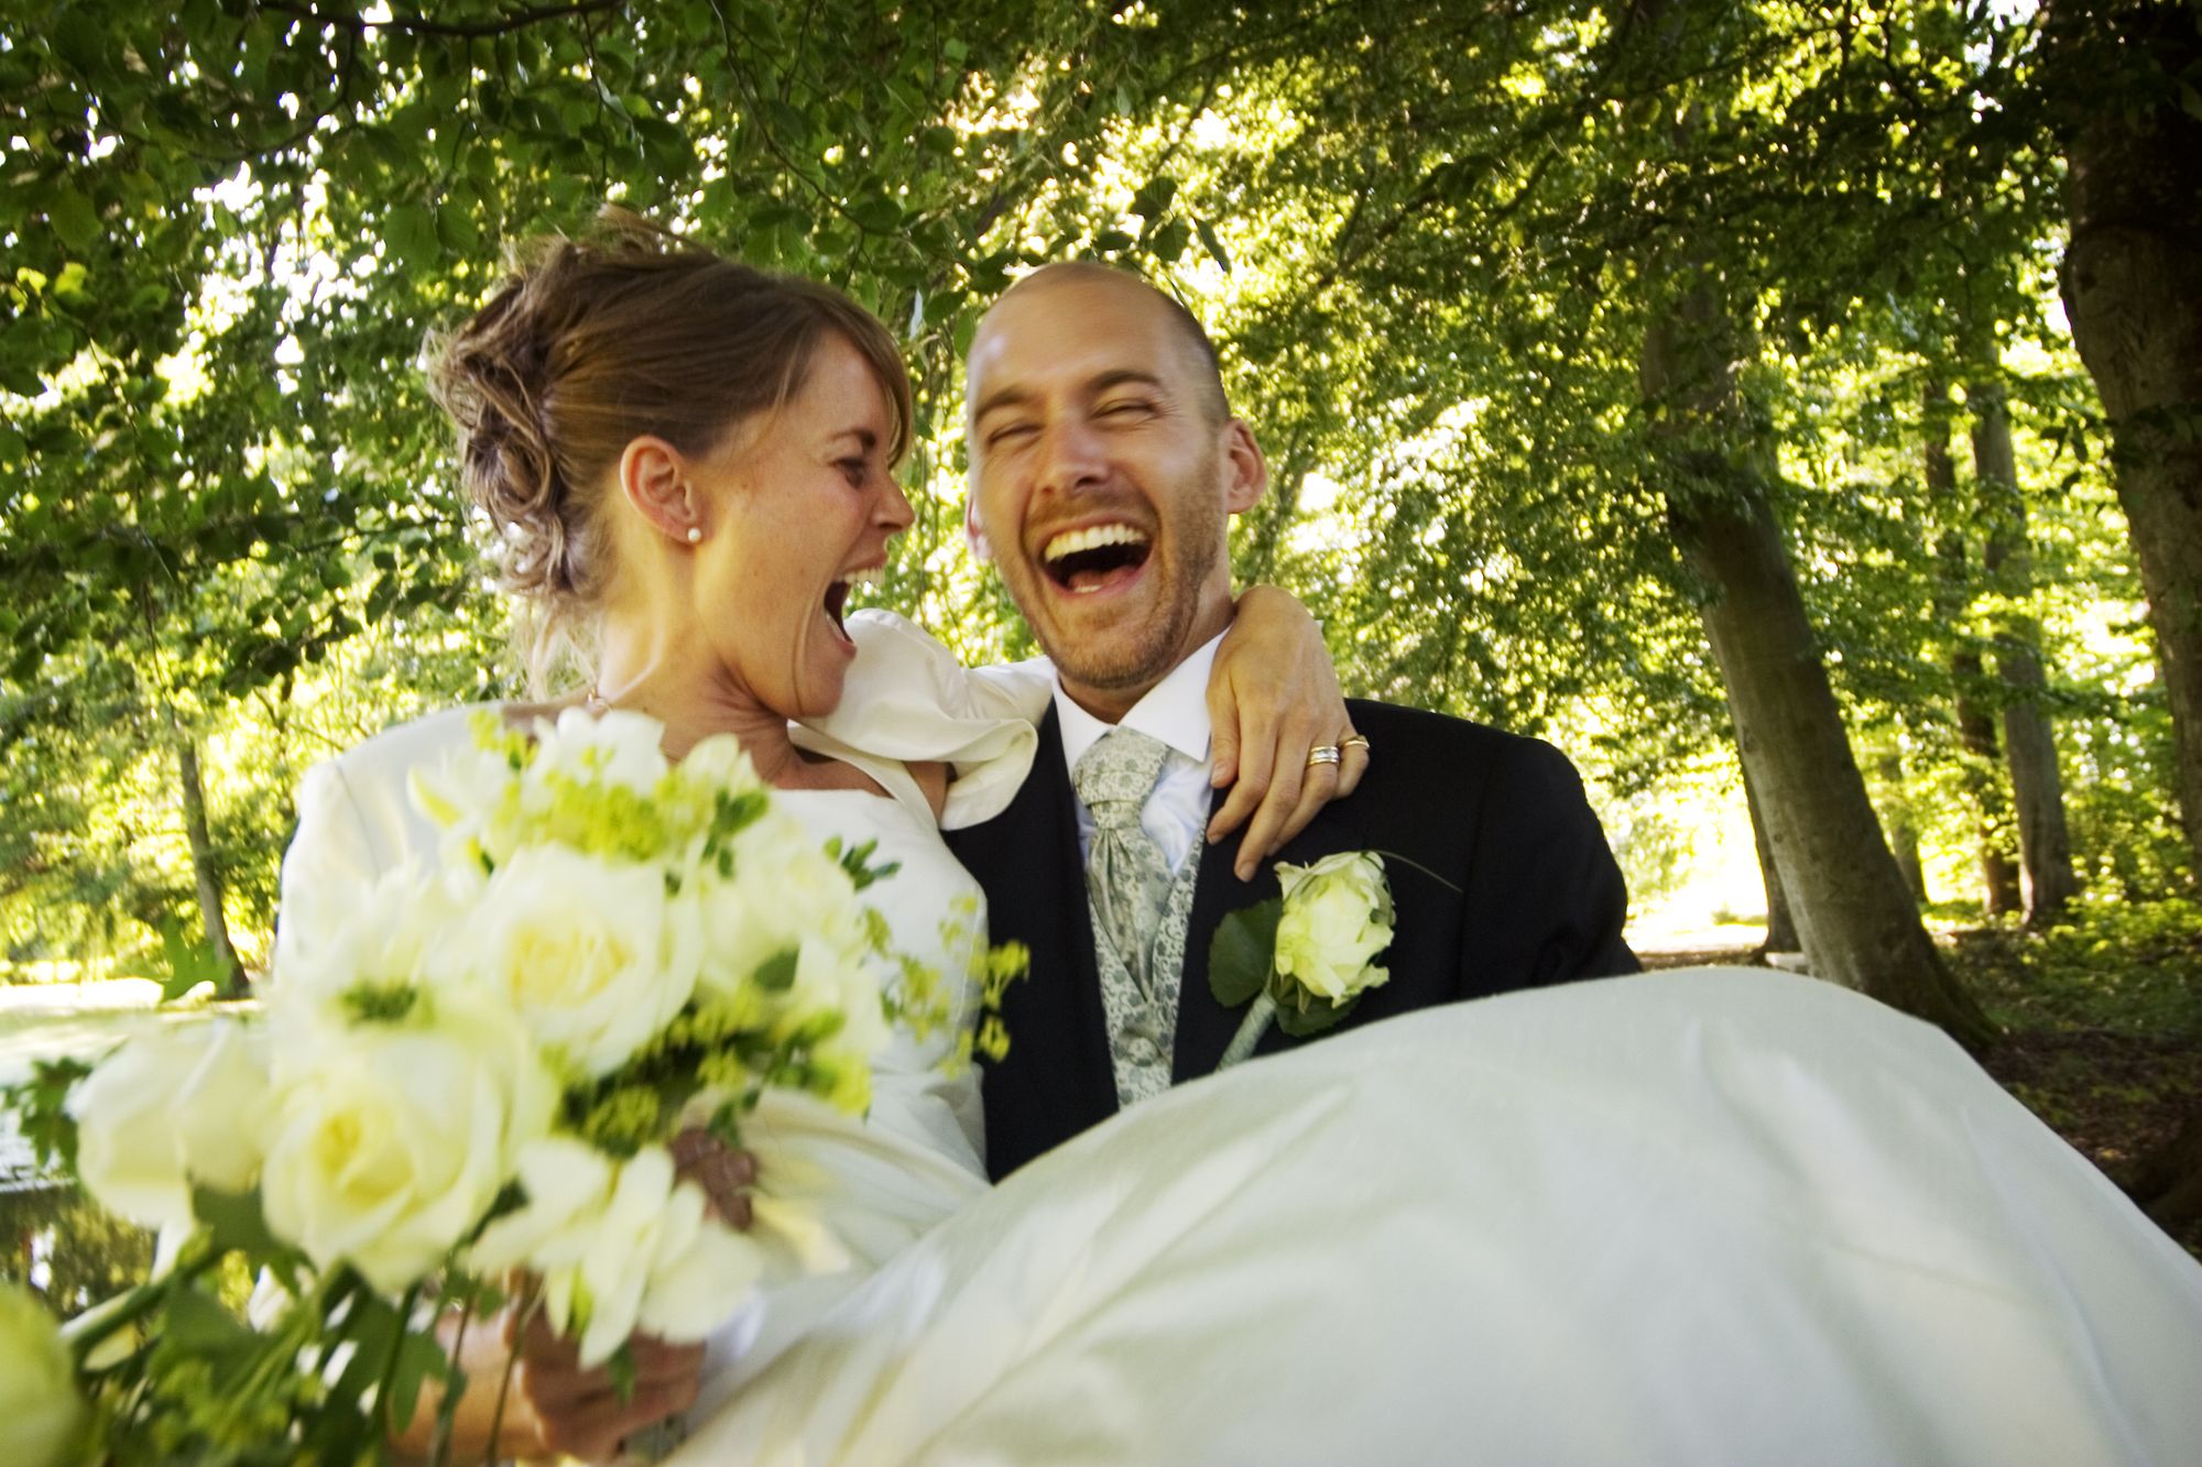
{"label": "slim upright tree trunk nearest the big dark right-edge trunk", "polygon": [[[1993,344],[1988,352],[1993,355]],[[2026,500],[2019,496],[2019,460],[2010,445],[2010,412],[2004,383],[1980,379],[1966,390],[1973,410],[1973,489],[1988,518],[1982,566],[2002,593],[2004,606],[2024,608],[2032,599],[2032,555],[2026,548]],[[2041,626],[2026,610],[1995,619],[1995,672],[2004,681],[2004,756],[2010,769],[2010,800],[2019,824],[2019,877],[2026,892],[2026,925],[2057,921],[2079,881],[2072,877],[2072,837],[2063,817],[2063,778],[2057,773],[2057,736],[2043,707],[2048,678],[2041,672]]]}

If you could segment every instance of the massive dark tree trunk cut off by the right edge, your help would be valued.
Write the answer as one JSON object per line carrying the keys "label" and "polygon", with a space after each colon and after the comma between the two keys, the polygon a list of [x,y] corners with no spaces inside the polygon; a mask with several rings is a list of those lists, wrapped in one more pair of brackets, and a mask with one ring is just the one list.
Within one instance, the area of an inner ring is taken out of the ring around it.
{"label": "massive dark tree trunk cut off by the right edge", "polygon": [[2187,4],[2050,0],[2072,341],[2116,438],[2118,502],[2171,700],[2180,813],[2202,883],[2202,75]]}

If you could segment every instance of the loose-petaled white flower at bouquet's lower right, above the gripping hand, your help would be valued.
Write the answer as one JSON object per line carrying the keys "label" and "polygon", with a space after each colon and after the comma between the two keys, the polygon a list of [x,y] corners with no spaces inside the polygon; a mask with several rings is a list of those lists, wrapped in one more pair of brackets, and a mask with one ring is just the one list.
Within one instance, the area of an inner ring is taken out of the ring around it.
{"label": "loose-petaled white flower at bouquet's lower right, above the gripping hand", "polygon": [[623,1163],[570,1137],[520,1156],[528,1200],[482,1229],[469,1262],[482,1273],[528,1269],[562,1335],[579,1333],[581,1363],[603,1363],[634,1330],[702,1339],[755,1286],[764,1251],[707,1216],[700,1187],[674,1181],[652,1145]]}

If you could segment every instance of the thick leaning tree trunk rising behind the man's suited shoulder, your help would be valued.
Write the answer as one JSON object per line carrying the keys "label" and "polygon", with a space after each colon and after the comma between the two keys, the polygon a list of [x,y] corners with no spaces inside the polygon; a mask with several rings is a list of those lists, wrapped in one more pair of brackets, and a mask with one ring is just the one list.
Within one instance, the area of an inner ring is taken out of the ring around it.
{"label": "thick leaning tree trunk rising behind the man's suited shoulder", "polygon": [[[1654,282],[1656,289],[1656,282]],[[1665,441],[1667,515],[1715,588],[1702,608],[1812,971],[1980,1044],[1991,1026],[1942,965],[1889,857],[1781,544],[1764,443],[1733,370],[1737,330],[1700,275],[1654,306],[1640,357]]]}

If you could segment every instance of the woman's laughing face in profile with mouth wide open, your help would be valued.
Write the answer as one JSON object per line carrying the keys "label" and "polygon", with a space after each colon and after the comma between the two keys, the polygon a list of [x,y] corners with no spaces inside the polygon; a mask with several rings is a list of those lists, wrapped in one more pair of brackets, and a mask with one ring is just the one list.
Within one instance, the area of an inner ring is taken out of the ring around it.
{"label": "woman's laughing face in profile with mouth wide open", "polygon": [[909,500],[887,467],[892,412],[839,333],[802,390],[696,467],[705,540],[694,612],[727,674],[784,718],[841,703],[850,582],[887,564]]}

